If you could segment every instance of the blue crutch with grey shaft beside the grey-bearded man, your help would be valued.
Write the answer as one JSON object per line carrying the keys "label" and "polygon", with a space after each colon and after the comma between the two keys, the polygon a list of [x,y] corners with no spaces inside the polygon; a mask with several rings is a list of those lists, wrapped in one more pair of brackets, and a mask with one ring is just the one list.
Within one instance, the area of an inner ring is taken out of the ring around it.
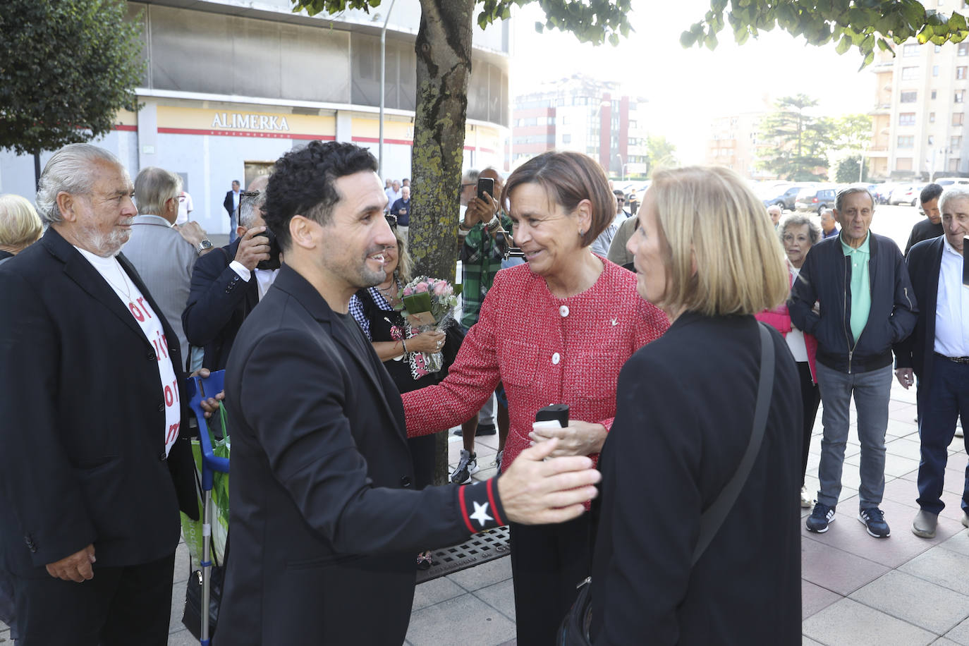
{"label": "blue crutch with grey shaft beside the grey-bearded man", "polygon": [[229,460],[218,457],[212,452],[208,438],[208,422],[202,410],[202,400],[214,397],[225,387],[226,371],[218,370],[208,377],[190,377],[188,391],[191,395],[189,406],[199,422],[199,446],[202,448],[202,646],[208,646],[208,604],[212,572],[212,476],[215,472],[229,473]]}

